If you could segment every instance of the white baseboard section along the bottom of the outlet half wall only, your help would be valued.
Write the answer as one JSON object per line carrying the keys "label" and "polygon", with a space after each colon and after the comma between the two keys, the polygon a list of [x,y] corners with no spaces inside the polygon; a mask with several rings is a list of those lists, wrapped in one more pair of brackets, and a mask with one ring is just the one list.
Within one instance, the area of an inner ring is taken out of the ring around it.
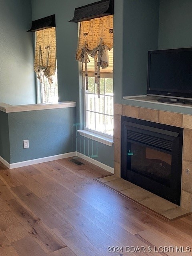
{"label": "white baseboard section along the bottom of the outlet half wall only", "polygon": [[28,165],[32,165],[32,164],[40,164],[40,163],[44,163],[44,162],[50,162],[50,161],[54,161],[54,160],[58,160],[58,159],[62,159],[62,158],[68,158],[68,157],[72,157],[72,156],[76,156],[76,151],[66,153],[66,154],[47,156],[47,157],[32,159],[32,160],[28,160],[28,161],[13,163],[13,164],[10,164],[9,169],[19,168],[22,166],[28,166]]}

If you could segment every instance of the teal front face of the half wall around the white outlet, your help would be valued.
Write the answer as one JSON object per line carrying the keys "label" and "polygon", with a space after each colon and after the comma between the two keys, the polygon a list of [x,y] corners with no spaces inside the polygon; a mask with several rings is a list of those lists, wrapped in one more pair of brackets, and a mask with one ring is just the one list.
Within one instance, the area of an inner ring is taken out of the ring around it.
{"label": "teal front face of the half wall around the white outlet", "polygon": [[[8,114],[10,164],[73,152],[75,108]],[[29,148],[23,148],[29,140]]]}

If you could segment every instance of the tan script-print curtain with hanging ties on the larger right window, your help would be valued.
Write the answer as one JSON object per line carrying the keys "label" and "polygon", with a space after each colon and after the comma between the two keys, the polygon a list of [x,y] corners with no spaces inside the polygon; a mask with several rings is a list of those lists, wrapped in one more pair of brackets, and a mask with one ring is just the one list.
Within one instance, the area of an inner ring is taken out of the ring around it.
{"label": "tan script-print curtain with hanging ties on the larger right window", "polygon": [[[94,18],[80,23],[76,60],[84,65],[86,90],[88,90],[88,68],[90,57],[94,58],[95,83],[100,95],[100,68],[109,66],[108,50],[113,48],[113,15]],[[112,72],[112,69],[110,69]],[[83,76],[83,74],[82,74]]]}

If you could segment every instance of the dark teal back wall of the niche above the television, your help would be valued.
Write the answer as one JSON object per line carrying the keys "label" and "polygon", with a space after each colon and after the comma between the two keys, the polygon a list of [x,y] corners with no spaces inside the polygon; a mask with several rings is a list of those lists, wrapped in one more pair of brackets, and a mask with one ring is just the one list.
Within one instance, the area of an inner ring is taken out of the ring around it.
{"label": "dark teal back wall of the niche above the television", "polygon": [[191,0],[160,0],[159,49],[192,46],[191,14]]}

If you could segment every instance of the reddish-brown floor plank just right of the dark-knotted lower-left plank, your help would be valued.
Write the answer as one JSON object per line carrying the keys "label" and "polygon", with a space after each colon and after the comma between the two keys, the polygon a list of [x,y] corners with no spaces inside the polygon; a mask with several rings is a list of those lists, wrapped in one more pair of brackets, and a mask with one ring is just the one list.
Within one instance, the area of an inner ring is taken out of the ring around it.
{"label": "reddish-brown floor plank just right of the dark-knotted lower-left plank", "polygon": [[38,198],[24,185],[12,188],[12,191],[49,227],[56,228],[66,224],[66,220],[51,206]]}

